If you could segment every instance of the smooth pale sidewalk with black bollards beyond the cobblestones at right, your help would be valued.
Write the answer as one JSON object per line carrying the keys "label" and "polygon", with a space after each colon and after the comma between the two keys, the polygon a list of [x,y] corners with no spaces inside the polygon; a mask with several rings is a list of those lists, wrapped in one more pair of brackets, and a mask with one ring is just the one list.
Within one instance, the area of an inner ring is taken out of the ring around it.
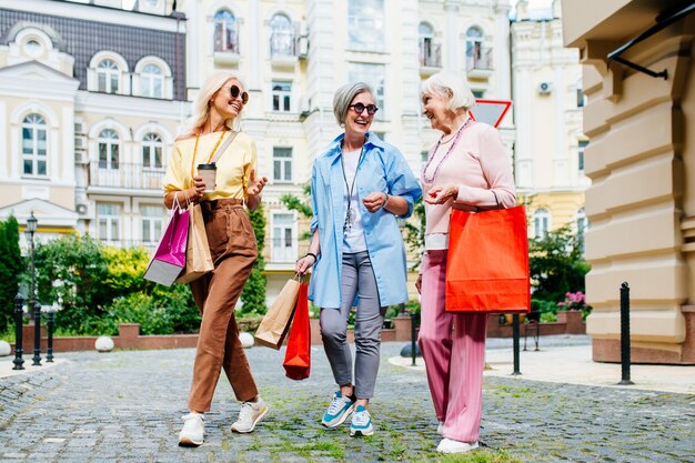
{"label": "smooth pale sidewalk with black bollards beyond the cobblestones at right", "polygon": [[[521,345],[523,349],[523,340]],[[522,374],[512,376],[512,340],[487,340],[486,361],[491,370],[485,371],[485,375],[695,394],[695,365],[631,365],[631,380],[635,384],[617,385],[622,378],[621,364],[593,362],[590,336],[542,336],[540,351],[532,350],[533,343],[528,343],[527,348],[531,350],[520,353]],[[390,362],[413,368],[410,358],[395,356]],[[417,359],[415,369],[424,371],[422,359]]]}

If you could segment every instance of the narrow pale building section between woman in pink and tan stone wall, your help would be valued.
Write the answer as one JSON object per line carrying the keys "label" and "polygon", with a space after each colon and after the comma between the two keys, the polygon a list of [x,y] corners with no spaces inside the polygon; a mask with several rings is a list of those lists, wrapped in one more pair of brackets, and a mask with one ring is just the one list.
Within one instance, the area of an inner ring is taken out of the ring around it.
{"label": "narrow pale building section between woman in pink and tan stone wall", "polygon": [[538,238],[567,224],[584,232],[591,184],[584,174],[582,66],[578,52],[564,47],[558,7],[528,10],[521,0],[511,27],[515,180],[530,235]]}

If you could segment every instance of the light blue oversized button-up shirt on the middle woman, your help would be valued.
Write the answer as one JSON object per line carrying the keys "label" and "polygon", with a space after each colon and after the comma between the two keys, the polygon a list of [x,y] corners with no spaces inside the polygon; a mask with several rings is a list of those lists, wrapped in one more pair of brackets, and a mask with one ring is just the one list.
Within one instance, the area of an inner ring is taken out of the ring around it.
{"label": "light blue oversized button-up shirt on the middle woman", "polygon": [[[341,305],[343,223],[346,212],[343,202],[345,181],[340,162],[343,138],[344,134],[338,137],[316,158],[311,174],[314,213],[311,232],[313,234],[319,229],[321,253],[309,283],[309,299],[320,308],[338,309]],[[407,213],[403,218],[413,213],[413,204],[422,197],[420,183],[403,154],[372,132],[367,132],[356,175],[355,189],[360,198],[374,191],[403,198],[407,202]],[[396,217],[384,209],[371,213],[361,200],[359,208],[381,306],[406,302],[405,246]]]}

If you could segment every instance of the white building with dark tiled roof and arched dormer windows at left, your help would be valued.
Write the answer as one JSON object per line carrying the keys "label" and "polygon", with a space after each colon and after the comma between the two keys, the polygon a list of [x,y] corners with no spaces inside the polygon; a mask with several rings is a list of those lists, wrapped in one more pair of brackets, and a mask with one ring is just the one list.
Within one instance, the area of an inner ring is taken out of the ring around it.
{"label": "white building with dark tiled roof and arched dormer windows at left", "polygon": [[189,112],[185,23],[164,0],[121,7],[0,4],[0,217],[33,211],[39,240],[161,235],[161,178]]}

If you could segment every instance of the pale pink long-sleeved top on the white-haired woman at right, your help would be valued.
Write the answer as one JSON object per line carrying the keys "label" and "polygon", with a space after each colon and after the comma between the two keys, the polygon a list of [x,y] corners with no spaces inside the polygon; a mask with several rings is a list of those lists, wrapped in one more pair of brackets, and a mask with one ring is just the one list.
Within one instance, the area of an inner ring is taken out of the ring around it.
{"label": "pale pink long-sleeved top on the white-haired woman at right", "polygon": [[[449,144],[440,147],[440,155],[449,150]],[[434,147],[432,148],[434,149]],[[433,153],[430,152],[430,157]],[[435,159],[422,174],[422,192],[426,197],[432,187],[457,184],[459,197],[444,204],[425,203],[426,227],[425,234],[449,233],[449,217],[451,209],[475,211],[476,208],[495,209],[495,197],[503,208],[516,204],[512,165],[504,151],[500,132],[483,122],[472,122],[464,129],[459,143],[440,167],[439,173],[432,183],[425,181],[431,178],[436,167]]]}

